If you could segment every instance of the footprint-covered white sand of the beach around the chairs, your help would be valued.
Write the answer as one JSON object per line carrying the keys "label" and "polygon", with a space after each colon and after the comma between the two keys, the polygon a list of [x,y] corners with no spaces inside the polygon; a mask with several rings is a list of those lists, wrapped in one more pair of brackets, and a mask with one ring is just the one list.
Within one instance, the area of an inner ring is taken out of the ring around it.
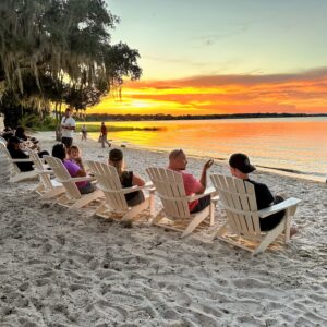
{"label": "footprint-covered white sand of the beach around the chairs", "polygon": [[[52,133],[37,137],[48,150],[55,144]],[[108,156],[95,142],[82,148],[85,158]],[[124,155],[144,177],[167,165],[162,153]],[[204,160],[189,161],[198,175]],[[220,164],[210,171],[228,173]],[[327,326],[326,184],[254,178],[302,198],[293,221],[301,233],[255,257],[208,242],[213,230],[180,240],[155,227],[126,229],[40,201],[34,183],[1,180],[0,326]],[[223,221],[219,208],[216,217]]]}

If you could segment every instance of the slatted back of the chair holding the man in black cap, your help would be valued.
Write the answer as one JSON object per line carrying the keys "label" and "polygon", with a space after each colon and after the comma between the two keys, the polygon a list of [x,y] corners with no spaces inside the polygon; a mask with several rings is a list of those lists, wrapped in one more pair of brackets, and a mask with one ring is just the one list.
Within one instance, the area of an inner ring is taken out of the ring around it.
{"label": "slatted back of the chair holding the man in black cap", "polygon": [[254,185],[222,174],[211,174],[210,179],[233,231],[250,238],[261,235]]}

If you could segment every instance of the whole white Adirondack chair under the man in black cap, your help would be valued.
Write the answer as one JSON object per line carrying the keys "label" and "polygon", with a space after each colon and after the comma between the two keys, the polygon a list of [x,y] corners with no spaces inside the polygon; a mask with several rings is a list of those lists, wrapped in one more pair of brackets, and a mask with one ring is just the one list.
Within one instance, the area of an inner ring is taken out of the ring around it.
{"label": "whole white Adirondack chair under the man in black cap", "polygon": [[[214,238],[217,237],[235,246],[249,250],[253,255],[264,252],[282,232],[284,232],[284,243],[290,240],[290,221],[296,211],[300,199],[291,197],[258,210],[252,183],[222,174],[211,174],[210,179],[227,215],[227,222]],[[281,222],[270,231],[262,231],[259,219],[281,210],[286,210]],[[232,234],[228,233],[229,230]]]}

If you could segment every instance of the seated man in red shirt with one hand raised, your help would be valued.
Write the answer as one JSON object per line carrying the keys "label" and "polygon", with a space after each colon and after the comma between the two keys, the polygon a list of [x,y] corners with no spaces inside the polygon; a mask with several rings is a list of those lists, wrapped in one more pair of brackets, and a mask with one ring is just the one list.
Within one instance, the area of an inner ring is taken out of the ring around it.
{"label": "seated man in red shirt with one hand raised", "polygon": [[[186,155],[182,149],[174,149],[169,155],[168,168],[182,174],[186,195],[203,194],[207,186],[207,170],[213,166],[214,160],[205,162],[199,180],[192,173],[185,171],[187,165]],[[198,213],[210,204],[210,195],[189,203],[190,213]]]}

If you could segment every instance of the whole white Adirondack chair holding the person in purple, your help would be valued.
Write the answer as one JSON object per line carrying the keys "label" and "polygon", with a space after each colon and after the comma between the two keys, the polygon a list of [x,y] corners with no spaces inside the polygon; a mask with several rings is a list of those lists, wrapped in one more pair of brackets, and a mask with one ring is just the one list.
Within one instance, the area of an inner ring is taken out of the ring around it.
{"label": "whole white Adirondack chair holding the person in purple", "polygon": [[100,191],[96,190],[89,194],[81,194],[75,184],[82,181],[93,181],[94,178],[72,178],[60,159],[52,156],[44,156],[44,158],[53,171],[57,181],[65,189],[64,194],[57,199],[59,205],[68,207],[69,210],[75,210],[101,198],[102,194]]}

